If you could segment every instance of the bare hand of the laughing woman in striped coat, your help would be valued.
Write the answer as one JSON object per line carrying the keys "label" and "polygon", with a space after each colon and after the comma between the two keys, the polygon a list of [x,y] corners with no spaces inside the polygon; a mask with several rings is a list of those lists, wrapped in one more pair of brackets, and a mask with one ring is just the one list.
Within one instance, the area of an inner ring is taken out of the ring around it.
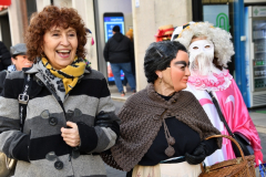
{"label": "bare hand of the laughing woman in striped coat", "polygon": [[79,128],[75,123],[66,122],[66,126],[70,128],[61,128],[61,136],[63,137],[63,140],[70,145],[71,147],[76,147],[80,145],[80,134]]}

